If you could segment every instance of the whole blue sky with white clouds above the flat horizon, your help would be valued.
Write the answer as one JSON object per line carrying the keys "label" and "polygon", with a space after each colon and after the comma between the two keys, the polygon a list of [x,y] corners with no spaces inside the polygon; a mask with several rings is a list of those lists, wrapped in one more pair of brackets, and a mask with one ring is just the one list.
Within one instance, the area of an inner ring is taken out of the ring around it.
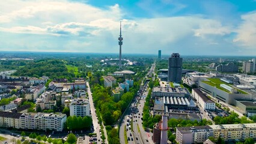
{"label": "whole blue sky with white clouds above the flat horizon", "polygon": [[256,0],[0,1],[0,51],[256,55]]}

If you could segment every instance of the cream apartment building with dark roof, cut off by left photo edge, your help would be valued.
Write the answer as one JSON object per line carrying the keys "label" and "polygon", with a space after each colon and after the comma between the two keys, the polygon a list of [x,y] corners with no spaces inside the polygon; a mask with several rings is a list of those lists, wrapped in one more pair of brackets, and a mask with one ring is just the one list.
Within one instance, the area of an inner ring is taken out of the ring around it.
{"label": "cream apartment building with dark roof, cut off by left photo edge", "polygon": [[0,127],[20,128],[22,113],[0,112]]}

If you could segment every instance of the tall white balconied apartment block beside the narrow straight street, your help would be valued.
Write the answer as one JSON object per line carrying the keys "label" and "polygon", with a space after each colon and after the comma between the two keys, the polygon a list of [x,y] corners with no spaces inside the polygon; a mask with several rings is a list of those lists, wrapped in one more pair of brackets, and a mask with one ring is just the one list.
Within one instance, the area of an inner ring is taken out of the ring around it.
{"label": "tall white balconied apartment block beside the narrow straight street", "polygon": [[70,116],[90,116],[90,103],[88,99],[75,99],[69,106]]}

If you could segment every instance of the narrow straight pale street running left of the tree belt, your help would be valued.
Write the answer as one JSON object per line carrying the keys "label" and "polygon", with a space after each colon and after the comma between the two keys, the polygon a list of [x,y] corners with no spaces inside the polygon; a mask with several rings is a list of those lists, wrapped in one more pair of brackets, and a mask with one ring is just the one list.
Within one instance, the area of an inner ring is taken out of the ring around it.
{"label": "narrow straight pale street running left of the tree belt", "polygon": [[[94,133],[97,133],[97,140],[100,140],[101,139],[100,138],[100,125],[98,124],[96,109],[95,109],[94,104],[93,104],[93,95],[91,94],[91,89],[90,89],[89,82],[87,82],[86,84],[87,84],[87,93],[88,93],[88,96],[89,96],[89,103],[90,103],[90,109],[91,109],[91,118],[93,119]],[[105,136],[106,136],[106,133],[105,133]],[[88,136],[87,136],[86,139],[89,139]],[[97,141],[97,142],[99,142],[99,141]],[[88,142],[86,142],[86,143],[88,143]],[[106,136],[105,143],[108,143],[107,136]]]}

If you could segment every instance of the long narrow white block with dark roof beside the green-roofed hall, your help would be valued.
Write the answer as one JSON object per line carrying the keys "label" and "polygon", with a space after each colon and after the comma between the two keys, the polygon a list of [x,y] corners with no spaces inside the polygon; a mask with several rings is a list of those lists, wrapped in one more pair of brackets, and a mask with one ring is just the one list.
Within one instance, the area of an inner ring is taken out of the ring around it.
{"label": "long narrow white block with dark roof beside the green-roofed hall", "polygon": [[207,95],[203,94],[200,89],[192,89],[192,97],[197,100],[197,103],[200,104],[204,110],[215,110],[215,102],[207,97]]}

